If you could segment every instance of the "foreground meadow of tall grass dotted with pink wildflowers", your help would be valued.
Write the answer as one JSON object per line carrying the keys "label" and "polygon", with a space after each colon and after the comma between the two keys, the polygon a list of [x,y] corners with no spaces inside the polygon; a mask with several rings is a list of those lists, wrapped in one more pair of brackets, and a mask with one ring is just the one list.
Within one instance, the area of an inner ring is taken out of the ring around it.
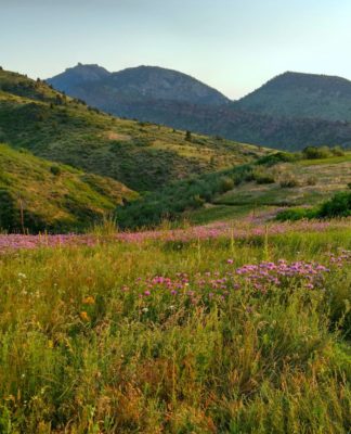
{"label": "foreground meadow of tall grass dotted with pink wildflowers", "polygon": [[275,225],[1,235],[0,432],[350,433],[350,220]]}

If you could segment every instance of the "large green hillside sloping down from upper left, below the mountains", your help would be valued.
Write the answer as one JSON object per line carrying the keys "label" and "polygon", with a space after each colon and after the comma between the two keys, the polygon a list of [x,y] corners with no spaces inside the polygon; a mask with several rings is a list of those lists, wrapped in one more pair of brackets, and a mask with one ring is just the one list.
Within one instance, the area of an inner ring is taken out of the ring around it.
{"label": "large green hillside sloping down from upper left, below the mountains", "polygon": [[38,156],[155,190],[190,175],[255,159],[253,145],[123,120],[63,95],[42,81],[0,71],[0,140]]}

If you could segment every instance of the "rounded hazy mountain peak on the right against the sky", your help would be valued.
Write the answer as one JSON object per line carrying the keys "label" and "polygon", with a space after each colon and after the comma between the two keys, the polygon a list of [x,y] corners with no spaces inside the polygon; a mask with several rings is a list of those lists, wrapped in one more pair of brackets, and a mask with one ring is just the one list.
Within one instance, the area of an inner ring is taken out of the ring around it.
{"label": "rounded hazy mountain peak on the right against the sky", "polygon": [[288,118],[351,122],[351,81],[288,72],[235,102],[234,107]]}

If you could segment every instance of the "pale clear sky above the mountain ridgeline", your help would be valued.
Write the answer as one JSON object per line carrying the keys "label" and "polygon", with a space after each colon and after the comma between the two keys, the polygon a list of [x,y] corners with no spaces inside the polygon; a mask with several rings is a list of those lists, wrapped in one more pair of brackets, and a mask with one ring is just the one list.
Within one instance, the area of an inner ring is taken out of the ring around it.
{"label": "pale clear sky above the mountain ridgeline", "polygon": [[351,79],[350,23],[350,0],[0,0],[0,65],[157,65],[238,99],[286,71]]}

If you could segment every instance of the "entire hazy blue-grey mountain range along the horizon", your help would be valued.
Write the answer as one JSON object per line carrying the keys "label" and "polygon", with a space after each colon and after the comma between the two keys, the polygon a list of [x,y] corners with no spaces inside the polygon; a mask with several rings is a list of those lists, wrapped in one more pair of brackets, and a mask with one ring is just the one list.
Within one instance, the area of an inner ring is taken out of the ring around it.
{"label": "entire hazy blue-grey mountain range along the horizon", "polygon": [[120,117],[277,149],[351,145],[344,122],[351,120],[351,85],[342,78],[286,73],[237,102],[185,74],[152,66],[108,73],[78,64],[47,81]]}

